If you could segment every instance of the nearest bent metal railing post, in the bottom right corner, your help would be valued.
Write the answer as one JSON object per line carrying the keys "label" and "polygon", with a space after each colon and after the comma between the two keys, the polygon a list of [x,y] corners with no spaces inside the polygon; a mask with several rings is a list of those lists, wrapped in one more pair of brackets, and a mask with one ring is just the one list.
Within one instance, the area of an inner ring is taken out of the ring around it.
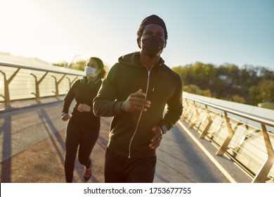
{"label": "nearest bent metal railing post, in the bottom right corner", "polygon": [[268,176],[268,173],[271,170],[271,167],[274,163],[274,151],[273,147],[271,145],[271,141],[268,136],[268,132],[266,131],[266,125],[261,124],[261,128],[263,131],[263,139],[266,144],[266,151],[268,153],[268,158],[266,162],[263,164],[259,172],[256,174],[256,176],[253,179],[253,183],[264,183],[266,182],[266,178]]}

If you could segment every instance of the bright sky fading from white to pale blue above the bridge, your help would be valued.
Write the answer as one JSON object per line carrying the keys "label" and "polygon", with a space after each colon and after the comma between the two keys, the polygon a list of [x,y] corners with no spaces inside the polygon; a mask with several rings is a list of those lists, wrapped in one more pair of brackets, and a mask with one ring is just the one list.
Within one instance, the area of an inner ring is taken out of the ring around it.
{"label": "bright sky fading from white to pale blue above the bridge", "polygon": [[49,63],[98,56],[112,66],[139,51],[136,32],[151,14],[167,25],[169,67],[201,61],[274,70],[273,0],[0,0],[0,51]]}

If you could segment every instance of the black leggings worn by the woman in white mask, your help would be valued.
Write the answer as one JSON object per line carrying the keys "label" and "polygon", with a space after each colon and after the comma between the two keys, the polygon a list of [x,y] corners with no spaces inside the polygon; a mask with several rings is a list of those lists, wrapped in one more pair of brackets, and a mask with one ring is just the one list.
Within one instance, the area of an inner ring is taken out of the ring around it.
{"label": "black leggings worn by the woman in white mask", "polygon": [[65,179],[66,182],[72,182],[74,161],[78,151],[79,163],[89,168],[91,166],[91,151],[99,136],[99,127],[84,127],[69,120],[67,122],[65,136]]}

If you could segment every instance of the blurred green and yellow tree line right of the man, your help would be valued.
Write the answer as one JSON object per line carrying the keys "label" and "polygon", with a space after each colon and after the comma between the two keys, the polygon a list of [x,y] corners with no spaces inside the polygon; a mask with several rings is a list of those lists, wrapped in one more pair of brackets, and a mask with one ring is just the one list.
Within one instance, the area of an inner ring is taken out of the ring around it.
{"label": "blurred green and yellow tree line right of the man", "polygon": [[274,72],[263,67],[226,63],[212,65],[197,62],[172,68],[183,79],[183,91],[257,106],[270,103],[273,108]]}

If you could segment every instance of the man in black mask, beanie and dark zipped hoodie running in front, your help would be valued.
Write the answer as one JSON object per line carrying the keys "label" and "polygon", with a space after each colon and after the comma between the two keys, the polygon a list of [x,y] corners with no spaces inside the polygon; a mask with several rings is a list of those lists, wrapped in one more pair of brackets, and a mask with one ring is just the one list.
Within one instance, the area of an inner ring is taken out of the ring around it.
{"label": "man in black mask, beanie and dark zipped hoodie running in front", "polygon": [[95,115],[113,116],[105,182],[153,182],[156,148],[183,111],[181,77],[160,57],[167,45],[164,21],[148,16],[137,35],[141,51],[120,57],[93,99]]}

